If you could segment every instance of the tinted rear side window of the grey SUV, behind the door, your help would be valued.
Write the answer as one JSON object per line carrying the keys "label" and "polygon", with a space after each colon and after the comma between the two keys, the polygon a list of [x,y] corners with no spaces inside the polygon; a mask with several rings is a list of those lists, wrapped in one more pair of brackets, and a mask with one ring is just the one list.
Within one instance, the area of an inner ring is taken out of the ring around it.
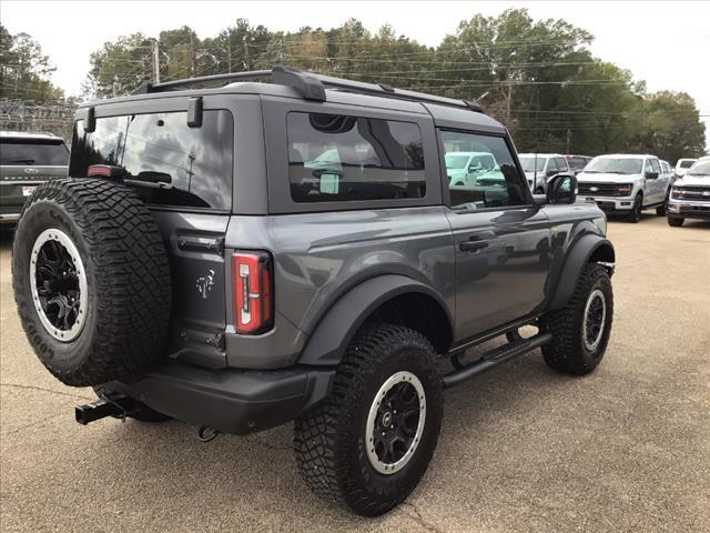
{"label": "tinted rear side window of the grey SUV, behind the door", "polygon": [[419,127],[365,117],[288,113],[288,179],[295,202],[423,198]]}

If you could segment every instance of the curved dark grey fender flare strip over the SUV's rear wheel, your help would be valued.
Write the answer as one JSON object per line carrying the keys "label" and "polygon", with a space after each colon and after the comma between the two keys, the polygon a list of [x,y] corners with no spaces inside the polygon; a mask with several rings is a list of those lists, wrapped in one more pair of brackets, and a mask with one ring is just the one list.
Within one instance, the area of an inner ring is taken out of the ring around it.
{"label": "curved dark grey fender flare strip over the SUV's rear wheel", "polygon": [[442,296],[432,288],[406,275],[378,275],[355,285],[331,306],[311,334],[298,363],[338,364],[355,332],[378,306],[412,292],[436,300],[446,312],[449,325],[454,323]]}

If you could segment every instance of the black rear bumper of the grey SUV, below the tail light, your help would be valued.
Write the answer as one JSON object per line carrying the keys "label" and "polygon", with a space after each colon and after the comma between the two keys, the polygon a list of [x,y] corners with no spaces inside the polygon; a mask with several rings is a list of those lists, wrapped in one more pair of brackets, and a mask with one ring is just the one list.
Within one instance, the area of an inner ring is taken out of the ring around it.
{"label": "black rear bumper of the grey SUV, below the tail light", "polygon": [[243,435],[294,420],[328,395],[334,376],[334,369],[205,370],[170,363],[106,388],[174,419]]}

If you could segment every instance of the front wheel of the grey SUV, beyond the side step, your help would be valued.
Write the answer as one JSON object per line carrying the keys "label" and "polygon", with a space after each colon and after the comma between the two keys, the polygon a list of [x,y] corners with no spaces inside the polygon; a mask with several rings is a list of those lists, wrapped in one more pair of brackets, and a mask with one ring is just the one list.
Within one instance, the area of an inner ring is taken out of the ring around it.
{"label": "front wheel of the grey SUV, beyond the side step", "polygon": [[570,301],[540,319],[552,333],[542,346],[545,362],[567,374],[584,375],[601,362],[611,333],[613,293],[607,269],[589,263],[577,281]]}

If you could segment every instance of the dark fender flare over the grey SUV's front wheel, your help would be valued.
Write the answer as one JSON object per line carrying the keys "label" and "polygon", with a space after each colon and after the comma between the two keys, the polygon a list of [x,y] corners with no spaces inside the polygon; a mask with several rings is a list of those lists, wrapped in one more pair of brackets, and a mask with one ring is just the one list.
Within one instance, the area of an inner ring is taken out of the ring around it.
{"label": "dark fender flare over the grey SUV's front wheel", "polygon": [[548,311],[561,309],[569,302],[577,286],[577,280],[585,265],[592,260],[592,255],[598,258],[595,260],[605,264],[610,272],[613,272],[616,252],[611,241],[594,234],[581,237],[567,253],[567,260],[559,274],[557,288],[547,306]]}

